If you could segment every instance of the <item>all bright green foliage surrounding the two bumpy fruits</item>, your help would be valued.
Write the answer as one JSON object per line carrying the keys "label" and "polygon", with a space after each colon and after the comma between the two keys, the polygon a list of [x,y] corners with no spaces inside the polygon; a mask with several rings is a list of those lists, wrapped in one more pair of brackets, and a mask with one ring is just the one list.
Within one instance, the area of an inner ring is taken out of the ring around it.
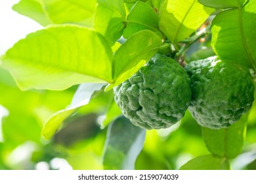
{"label": "all bright green foliage surrounding the two bumpy fruits", "polygon": [[256,0],[20,0],[13,10],[45,28],[1,56],[0,169],[60,169],[60,159],[73,169],[255,169],[255,102],[228,128],[201,127],[186,110],[144,130],[120,116],[112,88],[156,53],[182,66],[232,59],[255,84]]}

